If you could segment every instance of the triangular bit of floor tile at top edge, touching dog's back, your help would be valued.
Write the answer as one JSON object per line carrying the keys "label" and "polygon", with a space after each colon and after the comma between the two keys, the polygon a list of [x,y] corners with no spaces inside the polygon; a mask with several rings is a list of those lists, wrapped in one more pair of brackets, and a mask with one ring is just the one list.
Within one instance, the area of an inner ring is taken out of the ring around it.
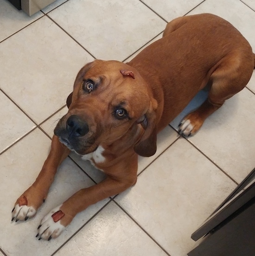
{"label": "triangular bit of floor tile at top edge, touching dog's back", "polygon": [[168,22],[172,19],[185,15],[202,1],[203,0],[160,0],[159,2],[158,0],[142,0],[142,2],[152,8],[156,13],[158,13]]}

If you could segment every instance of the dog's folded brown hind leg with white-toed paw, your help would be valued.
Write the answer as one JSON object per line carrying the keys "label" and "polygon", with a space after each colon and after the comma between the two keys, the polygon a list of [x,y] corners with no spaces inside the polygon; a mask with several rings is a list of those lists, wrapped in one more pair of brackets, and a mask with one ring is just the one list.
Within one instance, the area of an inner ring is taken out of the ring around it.
{"label": "dog's folded brown hind leg with white-toed paw", "polygon": [[210,76],[208,98],[198,109],[185,116],[179,124],[179,133],[185,136],[195,134],[209,115],[246,86],[254,65],[254,55],[250,52],[245,55],[234,52],[225,56]]}

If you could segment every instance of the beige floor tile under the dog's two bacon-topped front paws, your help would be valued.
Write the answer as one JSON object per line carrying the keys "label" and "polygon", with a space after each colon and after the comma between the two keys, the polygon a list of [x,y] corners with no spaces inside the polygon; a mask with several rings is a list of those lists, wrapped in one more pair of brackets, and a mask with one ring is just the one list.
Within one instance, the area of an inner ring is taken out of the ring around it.
{"label": "beige floor tile under the dog's two bacon-topped front paws", "polygon": [[94,184],[80,168],[67,159],[60,166],[45,204],[37,215],[26,222],[12,223],[13,205],[36,179],[48,154],[50,143],[50,139],[36,129],[0,156],[0,248],[7,255],[50,256],[108,201],[105,199],[79,213],[57,239],[48,242],[35,238],[38,224],[45,214],[79,189]]}

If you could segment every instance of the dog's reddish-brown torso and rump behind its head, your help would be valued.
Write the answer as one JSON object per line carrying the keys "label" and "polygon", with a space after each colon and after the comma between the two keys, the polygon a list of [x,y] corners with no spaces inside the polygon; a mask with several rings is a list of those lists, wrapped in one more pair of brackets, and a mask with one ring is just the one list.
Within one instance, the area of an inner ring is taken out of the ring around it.
{"label": "dog's reddish-brown torso and rump behind its head", "polygon": [[163,90],[162,109],[168,118],[160,122],[160,130],[209,81],[229,79],[229,84],[223,85],[229,87],[226,95],[221,95],[216,104],[222,105],[229,95],[242,90],[251,77],[254,55],[248,41],[234,26],[205,13],[172,20],[163,38],[149,45],[128,64],[139,70],[151,85],[156,99]]}

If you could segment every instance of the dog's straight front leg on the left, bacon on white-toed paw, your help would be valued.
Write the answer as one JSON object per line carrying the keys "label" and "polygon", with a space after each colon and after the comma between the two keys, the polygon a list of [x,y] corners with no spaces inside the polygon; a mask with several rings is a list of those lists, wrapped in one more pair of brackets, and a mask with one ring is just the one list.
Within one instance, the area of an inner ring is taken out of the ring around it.
{"label": "dog's straight front leg on the left, bacon on white-toed paw", "polygon": [[70,150],[53,136],[51,150],[45,160],[41,172],[35,182],[16,201],[12,211],[12,221],[32,218],[47,197],[49,188],[54,180],[57,167],[68,156]]}

